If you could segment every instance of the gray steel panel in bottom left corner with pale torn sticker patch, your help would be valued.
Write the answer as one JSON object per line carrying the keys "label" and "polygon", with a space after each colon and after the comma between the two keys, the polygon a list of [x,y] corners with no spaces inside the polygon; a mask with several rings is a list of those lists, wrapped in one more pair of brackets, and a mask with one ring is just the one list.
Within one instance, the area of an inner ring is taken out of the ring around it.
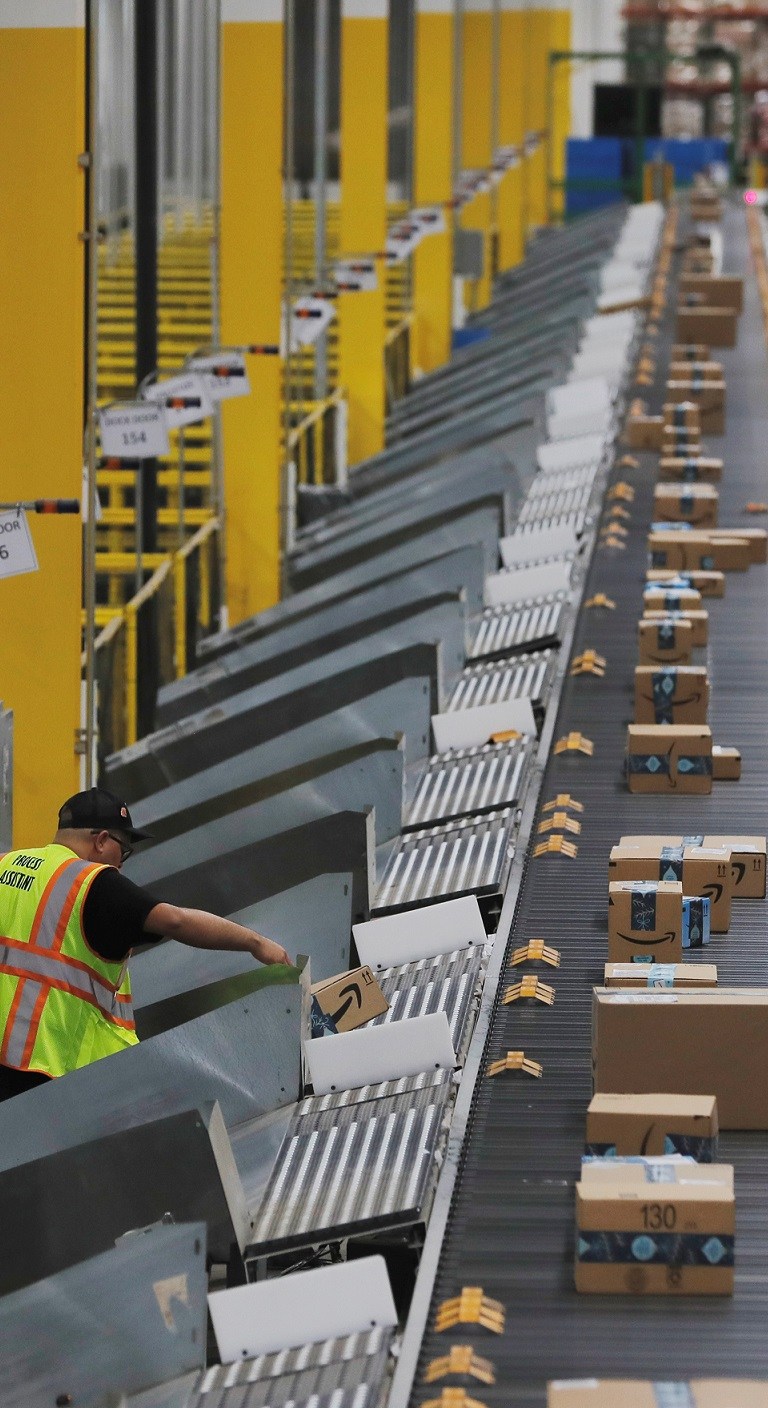
{"label": "gray steel panel in bottom left corner with pale torn sticker patch", "polygon": [[128,1238],[0,1300],[3,1408],[106,1408],[202,1369],[206,1226]]}

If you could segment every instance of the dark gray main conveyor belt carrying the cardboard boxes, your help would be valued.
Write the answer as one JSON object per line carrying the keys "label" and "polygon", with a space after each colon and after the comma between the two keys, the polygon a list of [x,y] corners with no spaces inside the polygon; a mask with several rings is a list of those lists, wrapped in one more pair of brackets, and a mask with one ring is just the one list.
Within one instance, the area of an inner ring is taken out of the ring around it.
{"label": "dark gray main conveyor belt carrying the cardboard boxes", "polygon": [[[729,389],[727,434],[721,441],[706,439],[710,453],[721,453],[726,463],[721,522],[745,524],[744,503],[767,497],[768,367],[738,207],[726,215],[729,268],[747,275],[745,311],[738,346],[714,353],[724,363]],[[671,321],[668,314],[658,339],[651,411],[662,404]],[[733,1300],[579,1297],[574,1291],[574,1181],[590,1097],[590,988],[600,980],[606,959],[609,849],[624,832],[761,834],[767,821],[764,566],[729,574],[726,600],[706,603],[710,724],[717,742],[741,749],[743,780],[716,783],[710,797],[630,796],[624,787],[626,724],[631,717],[655,469],[654,456],[638,458],[638,472],[621,467],[621,476],[631,477],[637,490],[626,551],[602,546],[588,579],[588,594],[605,591],[617,608],[585,611],[574,642],[574,652],[593,648],[606,656],[606,676],[566,681],[555,729],[555,736],[582,731],[593,741],[595,755],[552,756],[541,793],[543,801],[571,793],[583,804],[578,857],[548,855],[528,862],[510,934],[510,946],[535,936],[561,950],[561,969],[545,974],[555,987],[555,1002],[552,1008],[537,1002],[503,1007],[497,997],[481,1064],[482,1071],[488,1060],[524,1049],[543,1063],[544,1074],[537,1081],[520,1073],[479,1077],[414,1404],[434,1397],[434,1387],[423,1383],[426,1364],[447,1354],[452,1343],[471,1343],[492,1360],[496,1383],[483,1384],[482,1393],[479,1385],[468,1388],[490,1408],[510,1402],[516,1408],[543,1405],[550,1378],[679,1381],[768,1376],[768,1133],[727,1133],[720,1142],[721,1159],[736,1164]],[[717,963],[723,984],[768,983],[768,905],[736,904],[730,934],[714,938],[700,957]],[[469,1325],[434,1332],[437,1305],[462,1286],[482,1286],[486,1295],[502,1301],[503,1335]]]}

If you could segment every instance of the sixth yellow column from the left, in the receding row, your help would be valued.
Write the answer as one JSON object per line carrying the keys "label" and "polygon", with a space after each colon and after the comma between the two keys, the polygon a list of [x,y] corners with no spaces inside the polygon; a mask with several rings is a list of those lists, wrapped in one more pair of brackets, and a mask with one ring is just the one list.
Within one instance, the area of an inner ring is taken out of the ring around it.
{"label": "sixth yellow column from the left, in the receding row", "polygon": [[[499,144],[519,146],[526,135],[526,0],[502,0],[499,55]],[[512,269],[526,253],[523,161],[497,190],[499,268]]]}

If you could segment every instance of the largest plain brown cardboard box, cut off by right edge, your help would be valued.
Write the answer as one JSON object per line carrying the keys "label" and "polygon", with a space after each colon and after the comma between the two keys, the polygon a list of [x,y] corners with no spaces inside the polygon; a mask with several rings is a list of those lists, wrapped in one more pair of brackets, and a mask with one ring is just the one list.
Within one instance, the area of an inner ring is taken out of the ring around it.
{"label": "largest plain brown cardboard box, cut off by right edge", "polygon": [[706,1090],[720,1129],[768,1129],[768,988],[596,987],[592,1069],[596,1091]]}

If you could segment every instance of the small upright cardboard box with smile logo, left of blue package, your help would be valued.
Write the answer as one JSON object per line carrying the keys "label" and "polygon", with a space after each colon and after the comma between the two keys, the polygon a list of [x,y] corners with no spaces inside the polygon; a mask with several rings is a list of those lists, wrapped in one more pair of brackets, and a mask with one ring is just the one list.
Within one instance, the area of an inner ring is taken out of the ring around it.
{"label": "small upright cardboard box with smile logo, left of blue package", "polygon": [[679,963],[682,884],[648,876],[612,880],[607,887],[607,956],[610,963],[643,957],[654,963]]}

